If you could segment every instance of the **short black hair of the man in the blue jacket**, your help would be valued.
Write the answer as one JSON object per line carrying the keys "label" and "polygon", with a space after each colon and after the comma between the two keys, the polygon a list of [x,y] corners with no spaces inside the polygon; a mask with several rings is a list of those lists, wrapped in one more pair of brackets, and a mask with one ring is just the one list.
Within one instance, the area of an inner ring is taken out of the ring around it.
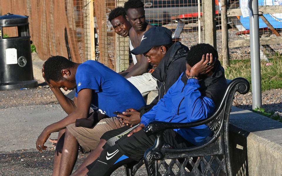
{"label": "short black hair of the man in the blue jacket", "polygon": [[193,67],[202,59],[202,56],[207,53],[212,53],[213,58],[216,57],[216,59],[218,59],[218,53],[212,45],[207,43],[198,43],[197,45],[193,45],[187,53],[186,63]]}

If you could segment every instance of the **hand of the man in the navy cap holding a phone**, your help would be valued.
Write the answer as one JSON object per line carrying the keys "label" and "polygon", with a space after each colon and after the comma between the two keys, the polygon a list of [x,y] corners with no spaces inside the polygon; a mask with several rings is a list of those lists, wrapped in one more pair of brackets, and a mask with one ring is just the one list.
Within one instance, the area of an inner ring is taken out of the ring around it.
{"label": "hand of the man in the navy cap holding a phone", "polygon": [[[117,117],[120,117],[123,125],[125,124],[126,126],[130,125],[130,127],[133,127],[133,125],[141,122],[140,112],[133,108],[127,109],[125,112],[122,112],[122,114],[123,115],[117,115]],[[126,115],[130,115],[130,117]]]}

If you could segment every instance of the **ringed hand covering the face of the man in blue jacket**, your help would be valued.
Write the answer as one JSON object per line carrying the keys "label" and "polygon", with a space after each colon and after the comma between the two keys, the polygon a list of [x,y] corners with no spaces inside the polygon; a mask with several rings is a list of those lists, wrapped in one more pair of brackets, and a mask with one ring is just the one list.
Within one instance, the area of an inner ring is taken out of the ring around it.
{"label": "ringed hand covering the face of the man in blue jacket", "polygon": [[208,73],[214,68],[215,62],[216,58],[213,59],[212,54],[206,54],[206,58],[203,55],[202,59],[192,67],[190,76],[199,76],[200,74],[204,75]]}

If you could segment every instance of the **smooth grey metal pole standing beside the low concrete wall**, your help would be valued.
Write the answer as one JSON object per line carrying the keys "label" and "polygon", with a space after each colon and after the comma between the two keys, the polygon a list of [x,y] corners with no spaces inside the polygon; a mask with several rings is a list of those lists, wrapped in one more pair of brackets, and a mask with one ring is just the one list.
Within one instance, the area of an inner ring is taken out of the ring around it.
{"label": "smooth grey metal pole standing beside the low concrete wall", "polygon": [[261,107],[261,62],[259,50],[259,5],[257,0],[249,3],[250,14],[250,49],[251,49],[251,80],[252,108]]}

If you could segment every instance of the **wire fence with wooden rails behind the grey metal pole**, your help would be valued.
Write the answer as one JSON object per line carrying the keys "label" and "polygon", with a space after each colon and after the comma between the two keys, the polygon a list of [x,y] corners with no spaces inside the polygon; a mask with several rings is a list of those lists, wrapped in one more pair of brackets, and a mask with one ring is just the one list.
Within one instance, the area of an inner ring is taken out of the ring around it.
{"label": "wire fence with wooden rails behind the grey metal pole", "polygon": [[[259,35],[261,59],[268,60],[281,56],[282,40],[282,5],[277,0],[258,0],[259,2]],[[229,4],[229,48],[230,59],[250,59],[249,17],[243,17],[238,0]]]}

